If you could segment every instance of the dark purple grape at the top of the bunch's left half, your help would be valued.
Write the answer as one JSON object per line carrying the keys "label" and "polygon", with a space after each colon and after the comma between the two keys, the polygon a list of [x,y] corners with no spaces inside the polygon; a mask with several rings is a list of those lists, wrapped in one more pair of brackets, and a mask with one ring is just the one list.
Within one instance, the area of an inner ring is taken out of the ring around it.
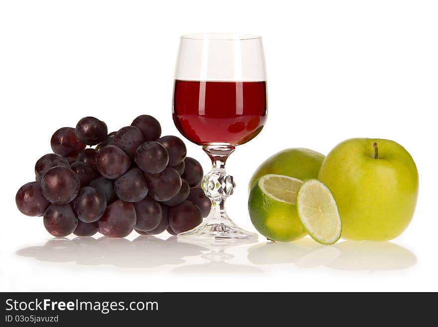
{"label": "dark purple grape at the top of the bunch's left half", "polygon": [[75,133],[85,144],[96,145],[107,139],[108,127],[98,118],[84,117],[76,125]]}

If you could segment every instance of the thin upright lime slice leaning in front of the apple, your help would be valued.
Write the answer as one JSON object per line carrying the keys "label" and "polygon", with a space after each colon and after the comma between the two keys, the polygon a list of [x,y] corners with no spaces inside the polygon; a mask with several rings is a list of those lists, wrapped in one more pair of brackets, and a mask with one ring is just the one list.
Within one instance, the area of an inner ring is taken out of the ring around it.
{"label": "thin upright lime slice leaning in front of the apple", "polygon": [[330,190],[316,179],[304,182],[297,195],[298,217],[309,235],[319,243],[334,244],[342,221]]}

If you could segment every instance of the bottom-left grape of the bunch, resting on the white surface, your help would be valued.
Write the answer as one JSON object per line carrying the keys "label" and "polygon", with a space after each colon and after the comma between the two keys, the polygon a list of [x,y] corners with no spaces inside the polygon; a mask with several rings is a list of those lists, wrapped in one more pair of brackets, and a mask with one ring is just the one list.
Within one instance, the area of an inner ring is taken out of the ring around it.
{"label": "bottom-left grape of the bunch, resting on the white surface", "polygon": [[70,235],[76,229],[78,218],[76,218],[70,203],[65,205],[51,204],[44,214],[43,222],[44,227],[50,234],[56,237],[64,237]]}

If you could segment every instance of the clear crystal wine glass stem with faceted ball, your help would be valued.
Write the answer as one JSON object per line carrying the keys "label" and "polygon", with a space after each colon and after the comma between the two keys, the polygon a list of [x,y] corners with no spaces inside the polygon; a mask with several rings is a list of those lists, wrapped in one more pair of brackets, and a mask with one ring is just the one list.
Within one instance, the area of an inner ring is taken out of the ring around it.
{"label": "clear crystal wine glass stem with faceted ball", "polygon": [[226,175],[225,162],[235,147],[228,144],[204,145],[203,150],[212,160],[213,169],[203,179],[202,188],[212,201],[212,210],[208,217],[210,222],[229,220],[225,212],[225,200],[235,188],[233,177]]}

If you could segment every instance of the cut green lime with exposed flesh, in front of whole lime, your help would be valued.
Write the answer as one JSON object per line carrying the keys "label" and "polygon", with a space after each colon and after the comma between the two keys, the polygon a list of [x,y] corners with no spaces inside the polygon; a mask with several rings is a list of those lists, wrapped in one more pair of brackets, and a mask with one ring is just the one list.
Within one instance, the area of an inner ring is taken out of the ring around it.
{"label": "cut green lime with exposed flesh, in front of whole lime", "polygon": [[298,218],[297,192],[303,181],[283,175],[260,177],[251,189],[248,211],[254,227],[273,241],[292,241],[306,235]]}

